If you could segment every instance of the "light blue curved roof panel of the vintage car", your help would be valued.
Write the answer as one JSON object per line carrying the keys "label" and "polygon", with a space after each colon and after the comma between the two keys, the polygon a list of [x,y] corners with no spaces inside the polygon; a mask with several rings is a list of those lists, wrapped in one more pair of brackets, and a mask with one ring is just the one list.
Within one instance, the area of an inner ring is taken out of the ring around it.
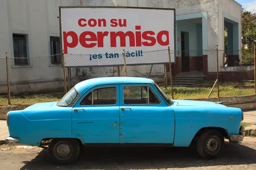
{"label": "light blue curved roof panel of the vintage car", "polygon": [[111,84],[129,84],[129,83],[140,83],[140,84],[153,84],[154,80],[141,78],[141,77],[100,77],[87,79],[79,82],[75,85],[76,90],[79,94],[84,94],[89,88],[97,85],[111,85]]}

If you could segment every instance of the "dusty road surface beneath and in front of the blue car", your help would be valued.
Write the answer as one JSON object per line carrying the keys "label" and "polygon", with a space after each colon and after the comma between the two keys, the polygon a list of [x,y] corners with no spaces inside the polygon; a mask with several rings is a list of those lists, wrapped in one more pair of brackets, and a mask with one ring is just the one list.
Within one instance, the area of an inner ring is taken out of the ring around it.
{"label": "dusty road surface beneath and in front of the blue car", "polygon": [[71,165],[50,163],[47,150],[39,147],[1,145],[1,170],[256,170],[256,138],[239,144],[225,142],[221,158],[201,158],[195,146],[187,148],[91,147],[81,149]]}

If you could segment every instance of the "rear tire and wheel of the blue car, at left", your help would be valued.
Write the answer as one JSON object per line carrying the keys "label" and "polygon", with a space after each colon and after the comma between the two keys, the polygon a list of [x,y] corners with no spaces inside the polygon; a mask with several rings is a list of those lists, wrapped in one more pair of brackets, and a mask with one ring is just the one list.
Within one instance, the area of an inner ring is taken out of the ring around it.
{"label": "rear tire and wheel of the blue car, at left", "polygon": [[55,138],[49,144],[48,155],[54,164],[72,164],[80,153],[77,139]]}

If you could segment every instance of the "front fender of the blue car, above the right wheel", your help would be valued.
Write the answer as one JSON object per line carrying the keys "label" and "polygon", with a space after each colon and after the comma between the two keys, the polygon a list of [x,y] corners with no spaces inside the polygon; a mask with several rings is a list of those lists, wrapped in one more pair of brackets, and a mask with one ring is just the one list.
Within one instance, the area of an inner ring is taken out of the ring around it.
{"label": "front fender of the blue car, above the right wheel", "polygon": [[202,128],[222,128],[227,135],[239,134],[242,112],[238,108],[174,106],[174,146],[187,147]]}

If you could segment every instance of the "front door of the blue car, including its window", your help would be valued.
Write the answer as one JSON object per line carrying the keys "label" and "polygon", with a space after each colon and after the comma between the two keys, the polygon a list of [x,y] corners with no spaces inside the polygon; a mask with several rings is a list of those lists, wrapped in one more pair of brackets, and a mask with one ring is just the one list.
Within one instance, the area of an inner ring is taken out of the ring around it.
{"label": "front door of the blue car, including its window", "polygon": [[120,85],[120,143],[173,144],[174,112],[151,84]]}

